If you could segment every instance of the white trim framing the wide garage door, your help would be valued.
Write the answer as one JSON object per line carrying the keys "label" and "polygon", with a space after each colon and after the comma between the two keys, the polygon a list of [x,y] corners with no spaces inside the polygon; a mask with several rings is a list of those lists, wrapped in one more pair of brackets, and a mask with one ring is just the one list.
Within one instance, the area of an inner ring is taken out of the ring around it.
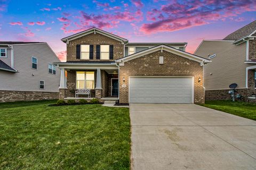
{"label": "white trim framing the wide garage door", "polygon": [[191,96],[191,103],[194,104],[195,102],[195,77],[194,76],[129,76],[128,82],[128,103],[130,103],[130,78],[191,78],[191,89],[192,89],[192,96]]}

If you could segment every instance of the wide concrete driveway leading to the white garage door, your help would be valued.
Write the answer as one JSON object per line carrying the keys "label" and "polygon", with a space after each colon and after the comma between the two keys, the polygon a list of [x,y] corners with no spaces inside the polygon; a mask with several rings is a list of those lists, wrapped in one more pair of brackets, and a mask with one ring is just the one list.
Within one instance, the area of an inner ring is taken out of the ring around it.
{"label": "wide concrete driveway leading to the white garage door", "polygon": [[132,169],[256,169],[256,122],[194,104],[131,104]]}

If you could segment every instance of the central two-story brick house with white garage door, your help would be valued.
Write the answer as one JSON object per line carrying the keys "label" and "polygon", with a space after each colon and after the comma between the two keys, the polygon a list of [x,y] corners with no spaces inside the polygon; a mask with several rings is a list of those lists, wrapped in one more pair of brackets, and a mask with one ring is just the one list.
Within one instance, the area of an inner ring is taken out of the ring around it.
{"label": "central two-story brick house with white garage door", "polygon": [[90,89],[91,97],[119,103],[204,103],[203,65],[210,61],[183,51],[187,43],[128,43],[97,28],[61,40],[61,99]]}

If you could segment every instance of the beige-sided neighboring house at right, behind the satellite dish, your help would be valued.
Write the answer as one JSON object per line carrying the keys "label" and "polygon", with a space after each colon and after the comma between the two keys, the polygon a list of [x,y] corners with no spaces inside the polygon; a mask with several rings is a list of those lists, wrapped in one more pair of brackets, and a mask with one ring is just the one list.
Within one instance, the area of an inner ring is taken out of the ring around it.
{"label": "beige-sided neighboring house at right, behind the satellite dish", "polygon": [[204,66],[205,100],[230,99],[231,83],[245,100],[255,97],[256,21],[222,40],[203,40],[195,55],[212,61]]}

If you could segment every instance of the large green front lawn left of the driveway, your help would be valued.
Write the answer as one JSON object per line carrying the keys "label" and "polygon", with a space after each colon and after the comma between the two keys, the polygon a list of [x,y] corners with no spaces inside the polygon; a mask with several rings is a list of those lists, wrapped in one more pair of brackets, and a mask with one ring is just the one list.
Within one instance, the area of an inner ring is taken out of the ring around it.
{"label": "large green front lawn left of the driveway", "polygon": [[130,169],[128,108],[0,104],[0,169]]}

